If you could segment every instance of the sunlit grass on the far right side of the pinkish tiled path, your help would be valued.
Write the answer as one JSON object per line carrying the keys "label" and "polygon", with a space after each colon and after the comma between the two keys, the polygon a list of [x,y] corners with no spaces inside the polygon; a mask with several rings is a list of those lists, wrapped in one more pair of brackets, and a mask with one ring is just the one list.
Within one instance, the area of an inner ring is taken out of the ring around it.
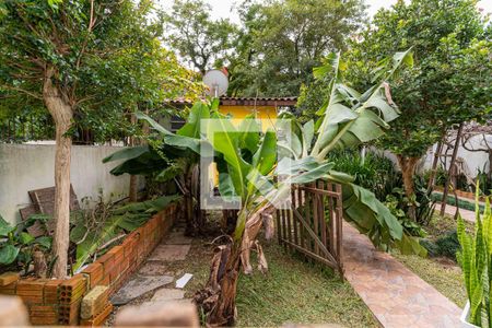
{"label": "sunlit grass on the far right side of the pinkish tiled path", "polygon": [[[435,239],[445,232],[454,229],[456,229],[456,222],[452,216],[445,215],[444,218],[440,218],[435,214],[429,226],[425,227],[425,231],[430,239]],[[461,269],[456,262],[443,257],[422,258],[414,255],[401,255],[398,251],[395,251],[393,256],[424,281],[433,285],[443,295],[456,303],[456,305],[459,307],[465,306],[467,294]]]}

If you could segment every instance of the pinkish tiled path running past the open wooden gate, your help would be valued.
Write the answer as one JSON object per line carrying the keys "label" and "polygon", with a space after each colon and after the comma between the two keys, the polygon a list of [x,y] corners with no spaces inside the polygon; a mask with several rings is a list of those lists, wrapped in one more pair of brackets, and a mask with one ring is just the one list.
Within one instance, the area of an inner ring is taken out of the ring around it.
{"label": "pinkish tiled path running past the open wooden gate", "polygon": [[456,304],[348,223],[343,251],[347,280],[384,327],[460,327]]}

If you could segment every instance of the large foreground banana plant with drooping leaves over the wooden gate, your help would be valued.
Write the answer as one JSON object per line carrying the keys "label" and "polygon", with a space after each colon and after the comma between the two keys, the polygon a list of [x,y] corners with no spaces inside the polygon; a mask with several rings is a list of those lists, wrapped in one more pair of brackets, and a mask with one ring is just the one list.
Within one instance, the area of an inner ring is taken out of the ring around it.
{"label": "large foreground banana plant with drooping leaves over the wooden gate", "polygon": [[[221,195],[242,200],[231,243],[219,248],[212,260],[208,286],[197,297],[208,315],[209,324],[234,323],[241,266],[245,272],[251,271],[249,249],[254,245],[258,247],[256,237],[263,218],[276,211],[276,200],[290,195],[291,184],[307,184],[319,178],[342,184],[344,218],[377,247],[387,249],[396,245],[405,251],[422,251],[414,239],[403,234],[398,220],[374,194],[352,184],[350,176],[333,171],[333,165],[326,160],[335,149],[354,147],[380,137],[388,122],[398,117],[387,81],[402,63],[412,63],[410,51],[397,52],[382,61],[374,79],[378,82],[361,94],[343,83],[344,65],[340,55],[330,55],[327,65],[315,70],[317,77],[332,74],[330,97],[318,112],[320,118],[316,124],[309,121],[303,126],[291,114],[280,115],[280,118],[291,120],[290,142],[278,140],[273,130],[258,133],[254,118],[245,119],[241,131],[237,131],[229,119],[215,110],[199,113],[200,118],[218,119],[213,126],[207,126],[207,131],[201,131],[207,132],[201,140],[183,133],[173,134],[152,119],[140,116],[163,134],[164,143],[169,147],[199,153],[200,144],[209,143],[215,152]],[[196,125],[197,119],[197,116],[190,117],[188,124]],[[276,145],[289,153],[289,157],[279,161]],[[283,178],[276,179],[278,176]],[[258,181],[262,188],[257,187]],[[266,259],[260,258],[260,265],[265,267]]]}

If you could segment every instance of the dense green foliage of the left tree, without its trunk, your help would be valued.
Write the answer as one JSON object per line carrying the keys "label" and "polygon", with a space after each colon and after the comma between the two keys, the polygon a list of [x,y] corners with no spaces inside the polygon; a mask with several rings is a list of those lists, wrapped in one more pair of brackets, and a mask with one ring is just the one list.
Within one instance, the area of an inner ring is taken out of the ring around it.
{"label": "dense green foliage of the left tree, without its trunk", "polygon": [[73,108],[71,133],[77,138],[89,129],[99,142],[133,132],[128,113],[198,90],[194,74],[161,46],[161,26],[148,19],[152,1],[0,5],[0,121],[19,121],[17,134],[49,126],[43,95],[47,68]]}

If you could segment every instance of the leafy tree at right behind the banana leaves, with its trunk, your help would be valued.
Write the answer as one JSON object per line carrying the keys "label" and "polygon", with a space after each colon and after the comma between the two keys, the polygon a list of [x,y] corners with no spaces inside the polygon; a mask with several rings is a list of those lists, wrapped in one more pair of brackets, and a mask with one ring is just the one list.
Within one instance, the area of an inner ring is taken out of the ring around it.
{"label": "leafy tree at right behind the banana leaves, with its trunk", "polygon": [[[348,65],[355,85],[368,85],[367,72],[391,51],[413,47],[413,68],[402,71],[393,86],[401,116],[379,140],[396,154],[410,200],[415,166],[429,148],[454,125],[482,119],[490,109],[491,44],[476,3],[398,1],[380,10],[352,45]],[[409,211],[413,219],[414,208]]]}

